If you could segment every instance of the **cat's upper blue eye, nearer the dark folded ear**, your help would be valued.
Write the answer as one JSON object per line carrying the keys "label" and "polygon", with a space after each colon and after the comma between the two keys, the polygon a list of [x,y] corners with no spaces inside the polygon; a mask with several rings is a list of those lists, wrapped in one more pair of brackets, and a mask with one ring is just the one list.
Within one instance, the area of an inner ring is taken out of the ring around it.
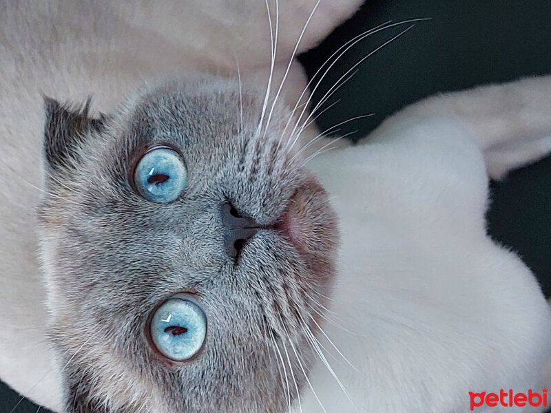
{"label": "cat's upper blue eye, nearer the dark folded ear", "polygon": [[138,161],[134,187],[146,200],[171,202],[182,193],[187,170],[180,154],[167,146],[150,149]]}

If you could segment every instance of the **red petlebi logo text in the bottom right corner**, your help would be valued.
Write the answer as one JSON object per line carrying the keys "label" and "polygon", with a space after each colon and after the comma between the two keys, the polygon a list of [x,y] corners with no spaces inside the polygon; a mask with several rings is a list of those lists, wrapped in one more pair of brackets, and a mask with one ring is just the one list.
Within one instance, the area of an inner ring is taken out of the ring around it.
{"label": "red petlebi logo text in the bottom right corner", "polygon": [[546,388],[541,390],[541,393],[533,392],[532,389],[526,393],[514,393],[512,389],[499,390],[497,393],[473,393],[469,392],[470,396],[470,411],[475,410],[475,407],[481,407],[486,405],[488,407],[496,407],[501,405],[503,407],[523,407],[526,405],[534,407],[547,407],[547,392]]}

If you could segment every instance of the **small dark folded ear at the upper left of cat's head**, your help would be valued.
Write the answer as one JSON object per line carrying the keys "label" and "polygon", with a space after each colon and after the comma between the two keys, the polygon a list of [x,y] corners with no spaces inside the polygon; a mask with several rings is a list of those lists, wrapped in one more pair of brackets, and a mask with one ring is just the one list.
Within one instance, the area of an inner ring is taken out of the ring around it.
{"label": "small dark folded ear at the upper left of cat's head", "polygon": [[50,169],[70,167],[75,149],[91,131],[101,131],[105,116],[90,118],[90,98],[81,107],[61,105],[57,100],[44,96],[44,155]]}

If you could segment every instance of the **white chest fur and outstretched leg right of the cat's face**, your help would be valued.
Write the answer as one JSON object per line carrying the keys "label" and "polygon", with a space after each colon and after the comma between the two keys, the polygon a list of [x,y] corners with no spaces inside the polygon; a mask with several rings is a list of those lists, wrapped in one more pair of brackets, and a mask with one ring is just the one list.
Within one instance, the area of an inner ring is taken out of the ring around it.
{"label": "white chest fur and outstretched leg right of the cat's face", "polygon": [[551,77],[429,98],[367,141],[312,162],[340,216],[325,331],[342,355],[324,346],[349,394],[319,363],[321,403],[309,392],[303,411],[468,412],[468,392],[549,388],[550,308],[484,213],[486,169],[503,176],[551,151]]}

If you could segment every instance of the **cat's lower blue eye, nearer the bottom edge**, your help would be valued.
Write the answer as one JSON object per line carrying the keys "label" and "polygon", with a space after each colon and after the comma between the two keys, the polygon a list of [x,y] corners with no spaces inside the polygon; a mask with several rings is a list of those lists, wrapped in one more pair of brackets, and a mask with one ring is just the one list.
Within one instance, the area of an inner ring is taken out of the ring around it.
{"label": "cat's lower blue eye, nearer the bottom edge", "polygon": [[189,299],[172,297],[154,313],[150,325],[157,350],[174,361],[191,359],[207,335],[207,317]]}

